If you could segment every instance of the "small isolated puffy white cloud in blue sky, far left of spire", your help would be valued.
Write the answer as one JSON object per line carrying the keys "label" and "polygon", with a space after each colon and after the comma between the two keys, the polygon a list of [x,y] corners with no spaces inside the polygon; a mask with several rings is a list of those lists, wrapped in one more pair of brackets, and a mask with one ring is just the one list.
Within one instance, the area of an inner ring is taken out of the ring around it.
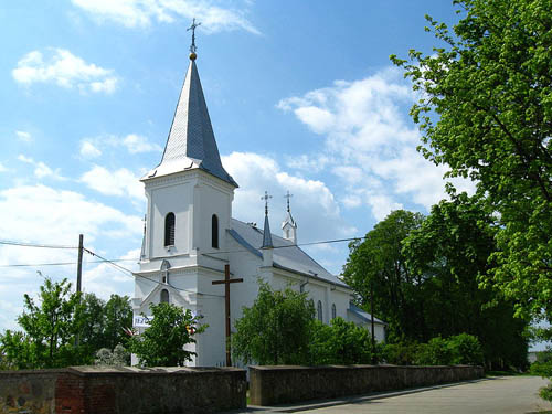
{"label": "small isolated puffy white cloud in blue sky, far left of spire", "polygon": [[29,52],[11,73],[17,82],[24,85],[54,83],[68,89],[76,87],[83,93],[110,94],[118,83],[112,70],[86,63],[64,49],[49,49],[47,57],[40,51]]}

